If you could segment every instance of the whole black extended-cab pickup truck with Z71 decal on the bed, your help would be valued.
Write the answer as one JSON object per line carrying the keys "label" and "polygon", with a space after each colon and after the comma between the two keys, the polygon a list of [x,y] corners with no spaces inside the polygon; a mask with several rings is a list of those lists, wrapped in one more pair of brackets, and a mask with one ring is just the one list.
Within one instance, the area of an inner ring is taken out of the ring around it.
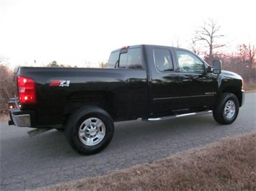
{"label": "whole black extended-cab pickup truck with Z71 decal on the bed", "polygon": [[[135,45],[114,50],[107,68],[19,67],[9,125],[65,132],[71,147],[94,154],[111,141],[115,121],[156,121],[213,113],[233,123],[244,103],[243,80],[177,47]],[[171,123],[171,122],[170,122]]]}

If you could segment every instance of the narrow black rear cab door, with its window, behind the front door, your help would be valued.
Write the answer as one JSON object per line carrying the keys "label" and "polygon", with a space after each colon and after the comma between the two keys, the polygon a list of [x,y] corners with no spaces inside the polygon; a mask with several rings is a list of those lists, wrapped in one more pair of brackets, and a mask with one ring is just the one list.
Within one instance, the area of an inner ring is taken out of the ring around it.
{"label": "narrow black rear cab door, with its window, behind the front door", "polygon": [[172,47],[147,46],[149,55],[149,106],[151,116],[169,115],[179,108],[180,77],[175,71]]}

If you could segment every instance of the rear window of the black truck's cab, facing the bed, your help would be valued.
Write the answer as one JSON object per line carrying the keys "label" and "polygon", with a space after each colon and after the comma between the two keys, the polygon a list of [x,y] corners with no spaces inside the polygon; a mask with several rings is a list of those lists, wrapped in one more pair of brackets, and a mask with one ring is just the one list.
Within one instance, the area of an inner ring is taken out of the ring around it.
{"label": "rear window of the black truck's cab, facing the bed", "polygon": [[143,69],[141,49],[131,48],[127,51],[112,52],[107,62],[107,67]]}

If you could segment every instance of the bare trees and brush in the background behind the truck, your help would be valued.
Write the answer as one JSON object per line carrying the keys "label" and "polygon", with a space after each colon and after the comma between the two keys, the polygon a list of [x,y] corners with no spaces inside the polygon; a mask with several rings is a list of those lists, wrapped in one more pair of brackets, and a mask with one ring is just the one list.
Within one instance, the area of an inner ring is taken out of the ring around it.
{"label": "bare trees and brush in the background behind the truck", "polygon": [[[221,52],[221,47],[225,47],[225,43],[221,43],[224,34],[221,34],[221,26],[208,19],[204,24],[195,30],[194,37],[190,43],[190,49],[203,59],[209,65],[213,65],[213,60],[219,59],[223,63],[224,70],[242,75],[245,83],[245,89],[256,89],[256,47],[252,43],[244,43],[237,47],[235,52]],[[177,45],[179,47],[179,45]],[[8,111],[7,104],[9,98],[13,98],[15,88],[13,85],[13,72],[6,65],[2,65],[0,59],[0,113]],[[35,61],[36,62],[36,61]],[[106,67],[106,63],[100,63],[99,67]],[[71,67],[70,65],[58,65],[54,60],[46,67]],[[76,66],[74,66],[76,67]],[[85,67],[91,67],[89,62],[85,62]]]}

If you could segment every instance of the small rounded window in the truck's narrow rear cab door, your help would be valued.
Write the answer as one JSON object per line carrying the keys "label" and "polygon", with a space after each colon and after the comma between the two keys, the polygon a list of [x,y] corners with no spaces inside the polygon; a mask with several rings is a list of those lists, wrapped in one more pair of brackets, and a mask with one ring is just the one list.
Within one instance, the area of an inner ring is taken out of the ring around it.
{"label": "small rounded window in the truck's narrow rear cab door", "polygon": [[154,64],[159,71],[173,71],[172,56],[169,50],[156,48],[153,50]]}

